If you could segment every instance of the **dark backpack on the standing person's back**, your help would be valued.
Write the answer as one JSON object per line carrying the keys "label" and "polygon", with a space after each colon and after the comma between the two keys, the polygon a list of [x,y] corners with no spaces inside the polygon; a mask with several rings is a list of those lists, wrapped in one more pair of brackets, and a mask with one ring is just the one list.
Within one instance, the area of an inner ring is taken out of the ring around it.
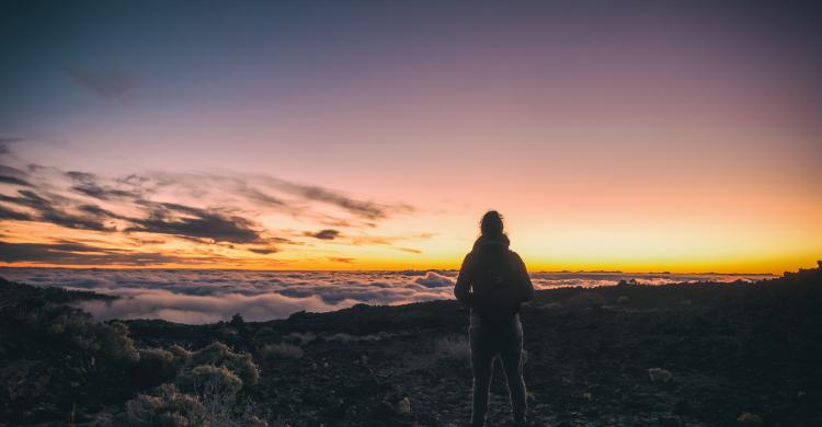
{"label": "dark backpack on the standing person's back", "polygon": [[478,254],[471,280],[472,308],[489,323],[501,324],[520,312],[515,264],[507,249]]}

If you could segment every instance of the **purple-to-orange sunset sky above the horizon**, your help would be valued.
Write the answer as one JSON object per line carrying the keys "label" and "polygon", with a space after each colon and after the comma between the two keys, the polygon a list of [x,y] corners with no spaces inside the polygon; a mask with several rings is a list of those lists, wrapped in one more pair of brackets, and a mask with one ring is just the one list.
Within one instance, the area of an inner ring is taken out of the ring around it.
{"label": "purple-to-orange sunset sky above the horizon", "polygon": [[0,5],[0,265],[822,258],[811,2]]}

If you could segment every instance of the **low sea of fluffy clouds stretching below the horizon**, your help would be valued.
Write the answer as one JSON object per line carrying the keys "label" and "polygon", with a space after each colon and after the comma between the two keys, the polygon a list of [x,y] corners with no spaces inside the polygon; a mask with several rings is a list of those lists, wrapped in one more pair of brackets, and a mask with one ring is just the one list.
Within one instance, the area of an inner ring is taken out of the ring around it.
{"label": "low sea of fluffy clouds stretching below the horizon", "polygon": [[[457,272],[256,272],[214,269],[0,268],[0,277],[121,297],[81,305],[98,319],[164,319],[210,323],[240,313],[246,320],[332,311],[356,303],[403,304],[454,298]],[[682,281],[756,280],[763,275],[533,273],[537,289],[597,287],[621,279],[664,285]]]}

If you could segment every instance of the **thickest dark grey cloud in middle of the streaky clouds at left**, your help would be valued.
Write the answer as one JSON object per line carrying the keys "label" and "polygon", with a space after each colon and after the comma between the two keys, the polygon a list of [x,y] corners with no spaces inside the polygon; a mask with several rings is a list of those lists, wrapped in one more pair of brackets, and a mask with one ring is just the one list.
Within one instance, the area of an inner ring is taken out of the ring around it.
{"label": "thickest dark grey cloud in middle of the streaky clouds at left", "polygon": [[133,219],[134,226],[126,231],[230,243],[255,243],[262,240],[253,229],[254,223],[239,216],[168,203],[150,204],[149,208],[148,218]]}

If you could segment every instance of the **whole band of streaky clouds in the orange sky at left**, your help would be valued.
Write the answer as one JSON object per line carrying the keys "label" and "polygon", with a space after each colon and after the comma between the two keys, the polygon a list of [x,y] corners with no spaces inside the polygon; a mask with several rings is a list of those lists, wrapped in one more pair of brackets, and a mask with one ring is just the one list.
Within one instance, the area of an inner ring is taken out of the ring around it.
{"label": "whole band of streaky clouds in the orange sky at left", "polygon": [[[0,223],[10,226],[0,229],[4,263],[259,267],[299,250],[302,259],[351,264],[356,259],[339,251],[344,245],[402,243],[395,249],[419,253],[407,243],[431,236],[375,234],[381,221],[413,212],[409,205],[269,175],[107,176],[27,163],[4,142],[0,151],[8,154],[0,157]],[[278,219],[305,227],[277,228]]]}

